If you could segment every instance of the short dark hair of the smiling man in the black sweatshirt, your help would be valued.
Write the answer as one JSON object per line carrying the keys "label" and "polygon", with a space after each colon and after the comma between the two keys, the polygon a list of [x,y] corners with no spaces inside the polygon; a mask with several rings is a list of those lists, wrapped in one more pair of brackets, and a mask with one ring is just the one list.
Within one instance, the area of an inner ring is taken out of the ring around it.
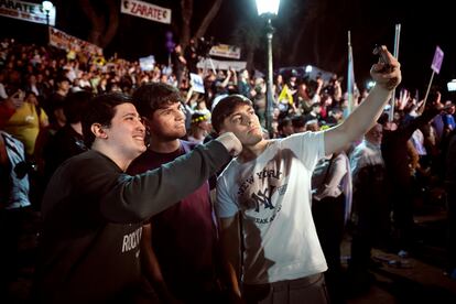
{"label": "short dark hair of the smiling man in the black sweatshirt", "polygon": [[108,93],[96,96],[89,101],[86,115],[82,119],[84,142],[88,148],[91,148],[95,141],[91,124],[100,123],[104,127],[110,127],[116,115],[115,108],[122,104],[133,104],[133,100],[122,93]]}

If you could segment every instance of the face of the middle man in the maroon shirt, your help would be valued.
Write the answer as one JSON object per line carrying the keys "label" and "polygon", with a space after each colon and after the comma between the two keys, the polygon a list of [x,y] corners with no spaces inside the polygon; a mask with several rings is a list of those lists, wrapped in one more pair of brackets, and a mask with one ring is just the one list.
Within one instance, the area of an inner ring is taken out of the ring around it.
{"label": "face of the middle man in the maroon shirt", "polygon": [[149,121],[151,133],[163,140],[175,140],[186,134],[185,115],[181,102],[165,105],[155,110]]}

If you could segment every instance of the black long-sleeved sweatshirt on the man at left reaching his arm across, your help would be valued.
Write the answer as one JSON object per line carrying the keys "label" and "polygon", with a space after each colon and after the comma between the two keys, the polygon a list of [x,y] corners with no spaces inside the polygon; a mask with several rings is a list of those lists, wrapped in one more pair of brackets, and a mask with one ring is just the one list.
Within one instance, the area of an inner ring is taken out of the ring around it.
{"label": "black long-sleeved sweatshirt on the man at left reaching his arm across", "polygon": [[43,199],[37,300],[131,303],[141,278],[142,222],[194,192],[229,159],[211,141],[134,176],[96,151],[66,161]]}

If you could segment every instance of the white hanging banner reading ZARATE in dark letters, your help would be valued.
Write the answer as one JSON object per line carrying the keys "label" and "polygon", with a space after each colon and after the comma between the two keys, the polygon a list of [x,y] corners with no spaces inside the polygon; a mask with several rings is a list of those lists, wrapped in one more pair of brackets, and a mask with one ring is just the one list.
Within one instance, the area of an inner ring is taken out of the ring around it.
{"label": "white hanging banner reading ZARATE in dark letters", "polygon": [[120,12],[162,23],[171,23],[171,10],[138,0],[122,0]]}

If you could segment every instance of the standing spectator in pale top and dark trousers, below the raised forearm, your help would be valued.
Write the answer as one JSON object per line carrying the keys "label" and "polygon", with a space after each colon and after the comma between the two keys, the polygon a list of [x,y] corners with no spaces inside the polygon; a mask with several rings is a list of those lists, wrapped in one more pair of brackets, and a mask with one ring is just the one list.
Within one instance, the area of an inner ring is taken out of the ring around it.
{"label": "standing spectator in pale top and dark trousers, below the raised forearm", "polygon": [[376,123],[350,154],[354,232],[348,274],[352,293],[370,287],[373,281],[368,271],[372,264],[371,249],[384,246],[390,232],[390,196],[381,154],[382,134],[382,126]]}

